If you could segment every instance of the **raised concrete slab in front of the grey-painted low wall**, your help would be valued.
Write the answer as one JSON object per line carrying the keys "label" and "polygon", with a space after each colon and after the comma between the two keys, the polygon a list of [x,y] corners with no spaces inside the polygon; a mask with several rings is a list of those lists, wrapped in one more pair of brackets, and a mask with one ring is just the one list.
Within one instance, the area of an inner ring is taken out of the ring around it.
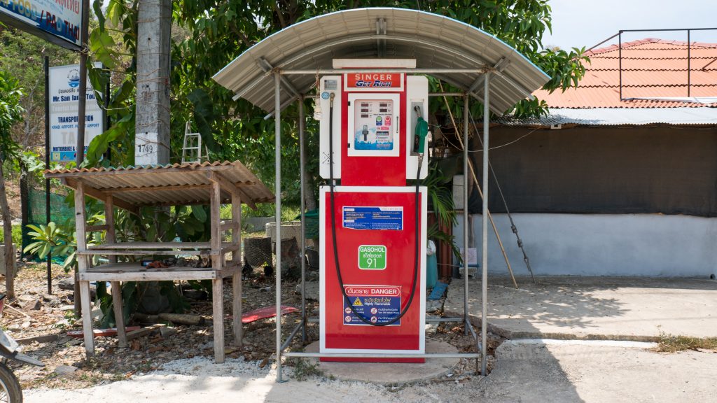
{"label": "raised concrete slab in front of the grey-painted low wall", "polygon": [[[690,278],[508,277],[488,280],[488,329],[506,338],[653,341],[660,331],[717,336],[717,281]],[[469,280],[469,310],[480,325],[480,280]],[[463,314],[463,280],[445,312]]]}

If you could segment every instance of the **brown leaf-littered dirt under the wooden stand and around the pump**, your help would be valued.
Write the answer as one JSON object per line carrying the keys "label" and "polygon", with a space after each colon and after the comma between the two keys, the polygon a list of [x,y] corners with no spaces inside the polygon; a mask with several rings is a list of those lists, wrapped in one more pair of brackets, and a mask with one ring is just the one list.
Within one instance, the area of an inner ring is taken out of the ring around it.
{"label": "brown leaf-littered dirt under the wooden stand and around the pump", "polygon": [[[156,371],[163,364],[177,359],[193,359],[206,357],[212,359],[212,322],[202,326],[184,326],[168,323],[176,329],[176,333],[162,337],[158,331],[148,336],[130,341],[128,349],[119,349],[115,337],[95,338],[95,357],[85,359],[85,348],[81,338],[67,336],[68,331],[82,329],[81,321],[76,319],[72,310],[72,291],[62,290],[58,283],[68,275],[59,265],[53,265],[52,295],[47,295],[46,265],[25,263],[19,267],[16,278],[16,295],[18,298],[6,306],[2,323],[11,336],[25,343],[24,352],[46,364],[44,368],[36,366],[14,365],[14,370],[22,383],[23,389],[62,388],[79,389],[113,381],[129,379],[133,375]],[[295,282],[282,285],[282,304],[300,308],[300,294],[296,293]],[[242,302],[244,312],[272,306],[275,304],[275,280],[265,278],[261,269],[255,270],[243,282]],[[275,318],[262,319],[244,326],[244,346],[239,349],[232,345],[231,330],[231,283],[225,284],[224,339],[227,342],[225,351],[228,359],[242,358],[244,361],[255,361],[258,368],[273,364],[275,353]],[[190,300],[189,313],[211,318],[212,305],[209,300]],[[440,305],[439,305],[440,306]],[[308,316],[318,316],[318,301],[307,300]],[[440,315],[437,309],[433,315]],[[282,333],[288,333],[298,323],[300,316],[292,313],[282,316]],[[143,326],[130,320],[128,326]],[[95,325],[95,328],[97,326]],[[463,326],[441,324],[432,326],[428,338],[446,341],[456,346],[459,351],[476,351],[472,336],[465,336]],[[298,351],[305,345],[318,340],[318,323],[309,323],[307,341],[302,343],[300,336],[293,339],[290,350]],[[502,342],[498,336],[490,335],[489,349],[493,354]],[[489,361],[489,369],[493,368],[494,359]],[[288,366],[298,363],[288,361]],[[300,365],[300,364],[299,364]],[[60,369],[58,369],[60,367]],[[70,373],[61,373],[70,367]],[[268,367],[267,367],[268,368]],[[57,371],[56,371],[57,370]],[[453,379],[470,379],[475,371],[475,361],[462,360],[454,371]]]}

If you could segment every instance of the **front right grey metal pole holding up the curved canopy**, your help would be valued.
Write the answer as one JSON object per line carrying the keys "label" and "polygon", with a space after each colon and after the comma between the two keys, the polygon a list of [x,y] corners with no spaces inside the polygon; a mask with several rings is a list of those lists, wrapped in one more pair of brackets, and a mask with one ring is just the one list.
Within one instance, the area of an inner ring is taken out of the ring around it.
{"label": "front right grey metal pole holding up the curved canopy", "polygon": [[481,286],[483,307],[480,313],[480,345],[481,352],[480,373],[486,374],[488,364],[488,126],[490,125],[490,72],[485,73],[483,83],[483,277]]}

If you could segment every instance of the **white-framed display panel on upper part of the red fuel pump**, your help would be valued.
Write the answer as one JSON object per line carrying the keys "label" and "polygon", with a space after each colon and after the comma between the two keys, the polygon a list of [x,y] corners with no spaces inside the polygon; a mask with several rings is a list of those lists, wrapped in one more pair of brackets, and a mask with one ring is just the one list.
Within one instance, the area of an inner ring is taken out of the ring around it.
{"label": "white-framed display panel on upper part of the red fuel pump", "polygon": [[394,101],[356,100],[353,108],[353,148],[389,151],[394,149]]}

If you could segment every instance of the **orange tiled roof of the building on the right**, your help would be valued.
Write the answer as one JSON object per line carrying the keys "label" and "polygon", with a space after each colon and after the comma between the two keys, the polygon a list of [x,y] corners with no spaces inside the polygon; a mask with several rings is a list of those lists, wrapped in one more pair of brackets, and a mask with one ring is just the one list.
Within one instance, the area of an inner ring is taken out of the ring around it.
{"label": "orange tiled roof of the building on the right", "polygon": [[[591,62],[577,88],[533,95],[549,108],[700,108],[700,104],[625,98],[688,97],[687,42],[647,38],[622,43],[622,98],[617,44],[586,52]],[[717,96],[717,44],[690,45],[690,97]]]}

